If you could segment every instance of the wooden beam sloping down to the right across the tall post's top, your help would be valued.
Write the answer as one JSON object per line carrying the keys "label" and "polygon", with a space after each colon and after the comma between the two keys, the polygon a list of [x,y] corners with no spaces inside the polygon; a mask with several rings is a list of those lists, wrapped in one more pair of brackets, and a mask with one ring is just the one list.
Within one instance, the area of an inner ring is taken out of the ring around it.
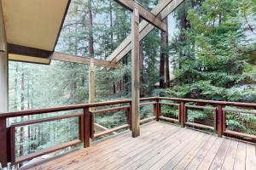
{"label": "wooden beam sloping down to the right across the tall post's top", "polygon": [[[114,1],[122,5],[124,8],[131,10],[131,12],[134,10],[135,2],[133,0],[114,0]],[[149,12],[146,8],[143,8],[143,6],[138,4],[138,11],[140,16],[144,20],[147,20],[153,26],[158,27],[161,31],[166,31],[167,29],[166,24],[162,22],[157,16]]]}

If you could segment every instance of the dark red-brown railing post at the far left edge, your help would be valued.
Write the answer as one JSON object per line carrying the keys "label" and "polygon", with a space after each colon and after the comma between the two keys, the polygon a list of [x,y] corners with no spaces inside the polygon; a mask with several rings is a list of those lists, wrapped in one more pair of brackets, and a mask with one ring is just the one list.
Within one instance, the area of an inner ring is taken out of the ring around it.
{"label": "dark red-brown railing post at the far left edge", "polygon": [[8,129],[6,127],[6,118],[0,117],[0,163],[2,167],[7,167],[8,164]]}

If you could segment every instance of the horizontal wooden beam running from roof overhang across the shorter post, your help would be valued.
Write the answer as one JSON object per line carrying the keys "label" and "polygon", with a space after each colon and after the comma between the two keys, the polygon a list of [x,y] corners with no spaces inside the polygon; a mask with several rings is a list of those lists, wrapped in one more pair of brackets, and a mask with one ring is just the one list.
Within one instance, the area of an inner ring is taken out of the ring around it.
{"label": "horizontal wooden beam running from roof overhang across the shorter post", "polygon": [[[55,52],[49,57],[49,59],[90,65],[91,58]],[[102,60],[102,59],[93,59],[93,60],[94,60],[94,65],[97,65],[97,66],[108,67],[108,68],[120,68],[121,67],[120,64],[117,64],[115,62],[110,62],[110,61],[106,61],[106,60]]]}

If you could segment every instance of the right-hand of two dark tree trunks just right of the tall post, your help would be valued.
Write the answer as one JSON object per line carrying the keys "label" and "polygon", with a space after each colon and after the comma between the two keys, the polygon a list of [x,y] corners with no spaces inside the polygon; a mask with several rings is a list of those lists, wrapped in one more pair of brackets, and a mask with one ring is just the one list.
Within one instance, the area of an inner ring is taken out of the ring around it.
{"label": "right-hand of two dark tree trunks just right of the tall post", "polygon": [[[166,23],[167,26],[167,31],[166,31],[166,37],[165,37],[165,46],[166,48],[169,45],[169,31],[168,31],[168,17],[166,17],[166,20],[164,20],[164,22]],[[170,88],[170,71],[169,71],[169,54],[168,54],[168,50],[166,50],[166,88]]]}

